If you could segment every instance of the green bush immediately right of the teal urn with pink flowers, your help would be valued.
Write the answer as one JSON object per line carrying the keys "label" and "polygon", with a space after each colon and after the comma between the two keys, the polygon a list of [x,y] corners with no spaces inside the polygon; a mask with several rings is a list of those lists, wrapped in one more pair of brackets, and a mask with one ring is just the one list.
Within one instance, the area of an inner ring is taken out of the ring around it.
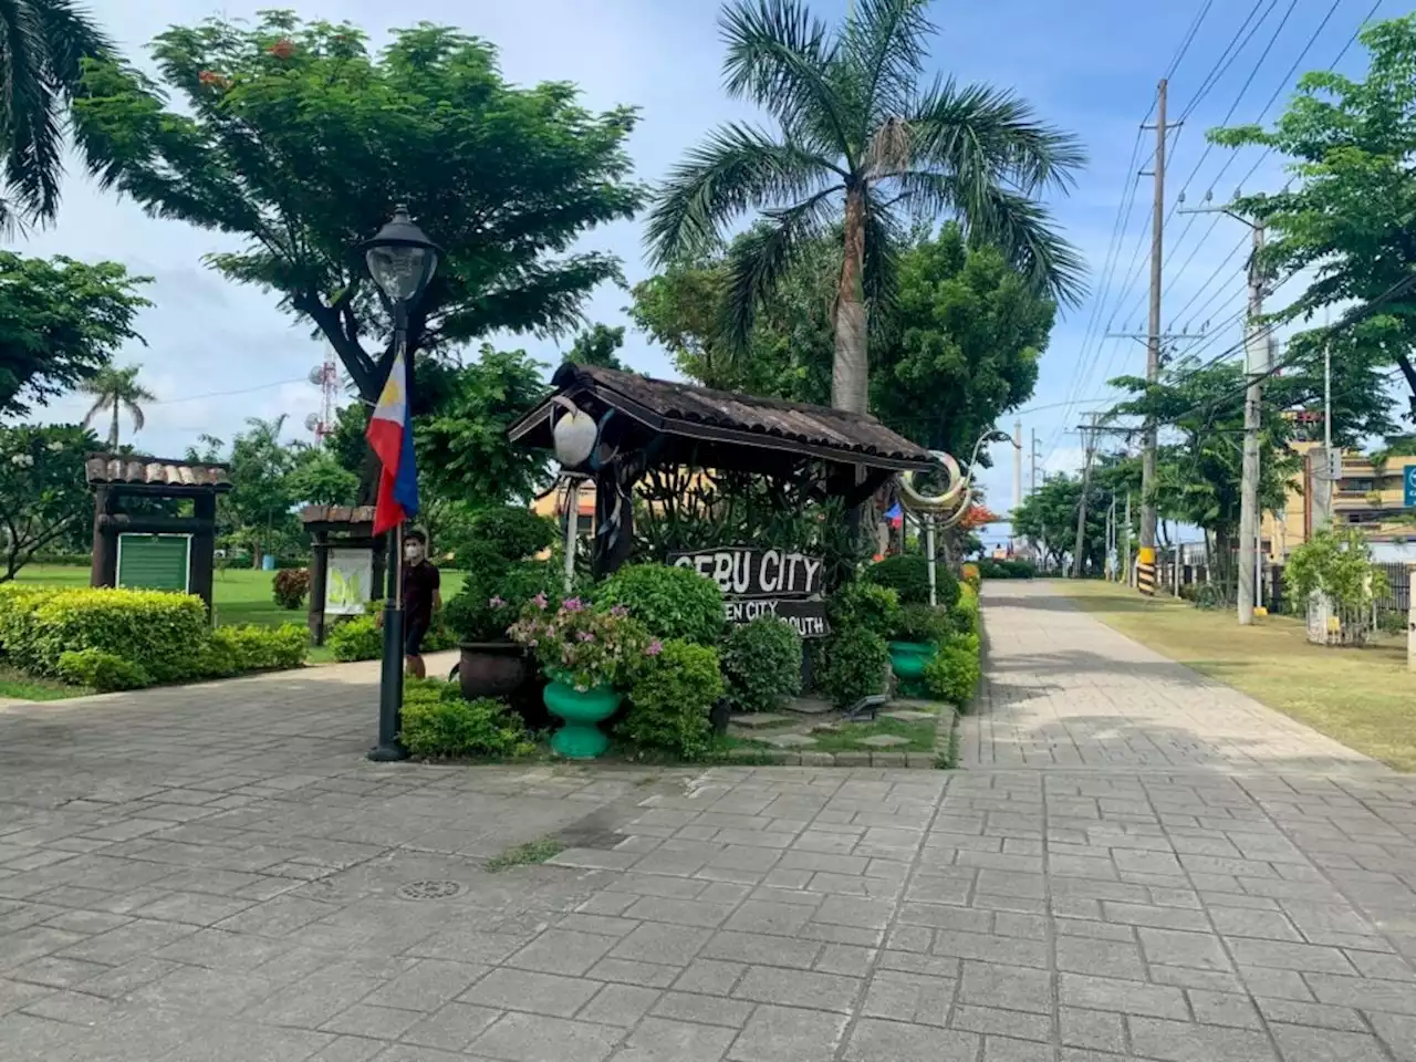
{"label": "green bush immediately right of the teal urn with pink flowers", "polygon": [[[784,626],[784,624],[783,624]],[[702,759],[712,746],[709,712],[724,694],[718,653],[691,641],[666,641],[630,687],[620,733],[641,749]]]}

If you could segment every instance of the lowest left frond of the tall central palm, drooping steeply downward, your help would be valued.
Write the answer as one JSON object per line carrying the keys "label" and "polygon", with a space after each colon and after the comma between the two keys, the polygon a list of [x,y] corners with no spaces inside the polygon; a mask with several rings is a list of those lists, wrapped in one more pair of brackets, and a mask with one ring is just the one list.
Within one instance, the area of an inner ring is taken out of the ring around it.
{"label": "lowest left frond of the tall central palm, drooping steeply downward", "polygon": [[748,346],[758,306],[796,263],[803,249],[830,224],[837,188],[823,188],[804,202],[767,211],[766,218],[736,239],[728,255],[724,331],[728,347]]}

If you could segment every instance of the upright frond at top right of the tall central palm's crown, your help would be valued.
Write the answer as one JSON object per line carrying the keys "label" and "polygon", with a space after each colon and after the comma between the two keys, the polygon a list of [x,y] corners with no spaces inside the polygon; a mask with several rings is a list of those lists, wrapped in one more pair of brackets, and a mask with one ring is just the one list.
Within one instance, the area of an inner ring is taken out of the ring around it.
{"label": "upright frond at top right of the tall central palm's crown", "polygon": [[854,110],[865,122],[862,142],[909,109],[929,55],[925,38],[935,30],[927,7],[929,0],[860,0],[855,8],[844,51],[858,96]]}

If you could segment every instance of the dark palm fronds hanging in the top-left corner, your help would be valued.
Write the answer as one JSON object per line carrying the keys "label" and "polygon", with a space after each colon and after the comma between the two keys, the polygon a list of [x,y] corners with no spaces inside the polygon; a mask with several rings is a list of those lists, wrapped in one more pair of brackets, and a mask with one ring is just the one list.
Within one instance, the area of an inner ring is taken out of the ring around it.
{"label": "dark palm fronds hanging in the top-left corner", "polygon": [[[0,0],[0,231],[17,214],[50,221],[59,205],[65,110],[79,91],[84,59],[110,58],[113,45],[72,0]],[[89,157],[89,166],[95,160]]]}

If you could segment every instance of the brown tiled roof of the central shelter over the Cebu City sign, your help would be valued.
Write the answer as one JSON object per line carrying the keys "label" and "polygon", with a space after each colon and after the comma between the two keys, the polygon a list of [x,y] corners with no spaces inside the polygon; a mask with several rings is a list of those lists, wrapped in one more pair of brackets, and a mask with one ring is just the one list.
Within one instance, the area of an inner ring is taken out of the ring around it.
{"label": "brown tiled roof of the central shelter over the Cebu City sign", "polygon": [[[874,416],[806,402],[714,391],[595,365],[562,365],[558,394],[615,409],[653,432],[726,446],[769,449],[885,469],[932,469],[937,462]],[[551,446],[548,399],[514,423],[514,440]]]}

